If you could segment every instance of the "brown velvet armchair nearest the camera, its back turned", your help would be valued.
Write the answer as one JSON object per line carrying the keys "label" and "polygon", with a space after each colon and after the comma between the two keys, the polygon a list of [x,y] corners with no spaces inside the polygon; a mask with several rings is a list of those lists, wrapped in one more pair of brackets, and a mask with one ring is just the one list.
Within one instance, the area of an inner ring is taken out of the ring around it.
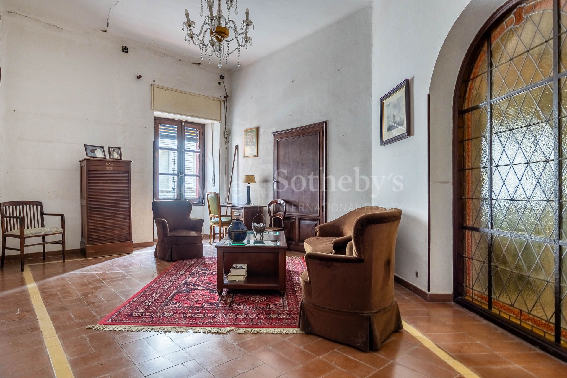
{"label": "brown velvet armchair nearest the camera, its back turned", "polygon": [[362,350],[377,350],[402,328],[393,296],[401,210],[364,214],[354,222],[346,254],[309,252],[301,275],[299,328]]}

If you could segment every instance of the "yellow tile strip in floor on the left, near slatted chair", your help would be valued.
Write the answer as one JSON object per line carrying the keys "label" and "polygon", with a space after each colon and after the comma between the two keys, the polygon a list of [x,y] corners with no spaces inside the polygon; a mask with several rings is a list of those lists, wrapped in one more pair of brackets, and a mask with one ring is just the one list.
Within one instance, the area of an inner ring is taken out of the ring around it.
{"label": "yellow tile strip in floor on the left, near slatted chair", "polygon": [[57,378],[74,378],[73,371],[71,371],[71,366],[69,365],[69,360],[67,360],[67,356],[65,355],[65,351],[61,346],[59,338],[57,337],[55,328],[53,328],[53,323],[51,322],[51,318],[47,313],[45,304],[41,299],[39,290],[37,290],[37,285],[35,281],[33,281],[33,275],[29,270],[29,267],[26,266],[23,276],[28,288],[29,298],[32,300],[33,310],[35,311],[37,321],[39,322],[43,341],[49,354],[49,359],[51,360],[53,372]]}

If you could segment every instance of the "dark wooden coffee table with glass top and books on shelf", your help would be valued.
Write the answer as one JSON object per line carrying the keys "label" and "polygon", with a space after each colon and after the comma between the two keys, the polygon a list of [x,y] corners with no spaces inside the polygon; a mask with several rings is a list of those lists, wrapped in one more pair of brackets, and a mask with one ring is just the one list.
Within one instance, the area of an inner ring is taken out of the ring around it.
{"label": "dark wooden coffee table with glass top and books on shelf", "polygon": [[[264,232],[254,239],[251,231],[244,243],[234,244],[224,237],[215,245],[217,248],[217,291],[222,295],[224,288],[278,290],[285,293],[285,251],[287,243],[284,231]],[[244,281],[228,281],[232,264],[248,264],[248,275]]]}

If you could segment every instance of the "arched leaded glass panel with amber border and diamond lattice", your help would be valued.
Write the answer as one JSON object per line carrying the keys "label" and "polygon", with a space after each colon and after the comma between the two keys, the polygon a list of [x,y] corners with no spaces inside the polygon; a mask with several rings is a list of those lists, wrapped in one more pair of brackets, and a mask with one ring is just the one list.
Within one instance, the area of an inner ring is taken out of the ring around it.
{"label": "arched leaded glass panel with amber border and diamond lattice", "polygon": [[463,62],[453,117],[455,300],[562,354],[566,7],[528,0],[497,11]]}

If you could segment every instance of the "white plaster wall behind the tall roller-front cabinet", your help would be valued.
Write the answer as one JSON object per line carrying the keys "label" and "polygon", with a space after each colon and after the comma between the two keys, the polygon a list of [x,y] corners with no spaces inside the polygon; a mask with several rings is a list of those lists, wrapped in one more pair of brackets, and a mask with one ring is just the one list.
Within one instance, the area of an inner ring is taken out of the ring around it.
{"label": "white plaster wall behind the tall roller-front cabinet", "polygon": [[[65,213],[67,248],[79,248],[83,144],[121,146],[133,160],[134,243],[153,240],[150,84],[222,98],[222,71],[101,32],[10,13],[1,22],[0,200],[38,200]],[[193,216],[204,215],[204,207],[194,209]]]}

